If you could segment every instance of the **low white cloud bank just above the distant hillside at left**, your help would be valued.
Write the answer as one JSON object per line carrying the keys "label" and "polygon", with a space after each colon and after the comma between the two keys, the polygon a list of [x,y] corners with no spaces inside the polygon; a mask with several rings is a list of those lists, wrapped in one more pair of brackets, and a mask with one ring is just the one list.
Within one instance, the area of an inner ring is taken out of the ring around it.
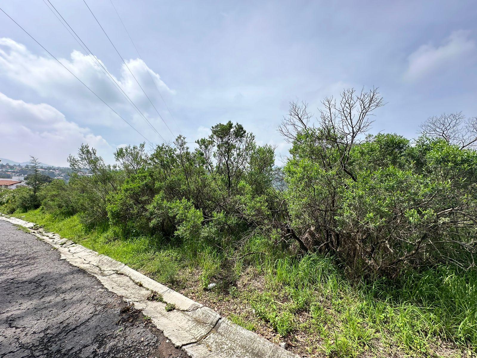
{"label": "low white cloud bank just above the distant hillside at left", "polygon": [[68,154],[82,143],[95,147],[101,155],[112,155],[113,148],[89,128],[66,120],[51,105],[31,104],[0,92],[0,118],[3,158],[25,161],[30,155],[44,163],[66,166]]}

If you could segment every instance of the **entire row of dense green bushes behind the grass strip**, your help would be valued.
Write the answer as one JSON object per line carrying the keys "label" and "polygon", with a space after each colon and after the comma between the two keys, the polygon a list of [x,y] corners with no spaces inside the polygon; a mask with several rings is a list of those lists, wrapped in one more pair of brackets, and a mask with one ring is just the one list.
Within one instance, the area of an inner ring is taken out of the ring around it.
{"label": "entire row of dense green bushes behind the grass strip", "polygon": [[37,175],[33,193],[14,190],[2,203],[11,212],[41,200],[55,214],[78,212],[86,226],[108,223],[122,238],[160,234],[192,251],[206,243],[231,260],[259,235],[291,253],[330,253],[355,276],[466,264],[476,249],[475,121],[431,117],[415,140],[367,135],[382,104],[376,90],[345,90],[323,101],[313,123],[306,105],[292,103],[279,129],[292,146],[282,169],[273,147],[228,122],[195,150],[182,136],[151,152],[121,147],[115,165],[82,145],[69,157],[69,184]]}

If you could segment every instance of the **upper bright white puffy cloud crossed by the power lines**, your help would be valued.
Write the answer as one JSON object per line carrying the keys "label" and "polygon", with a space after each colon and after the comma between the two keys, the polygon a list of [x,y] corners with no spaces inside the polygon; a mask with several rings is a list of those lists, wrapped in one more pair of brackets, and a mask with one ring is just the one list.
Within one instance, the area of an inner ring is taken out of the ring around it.
{"label": "upper bright white puffy cloud crossed by the power lines", "polygon": [[[127,67],[126,64],[122,64],[119,78],[111,74],[99,59],[97,60],[102,66],[98,64],[91,54],[73,51],[69,59],[58,58],[58,60],[108,105],[111,105],[123,116],[132,118],[134,126],[148,128],[144,119],[137,114],[123,93],[116,88],[115,84],[118,84],[161,132],[162,121],[145,97],[141,87],[159,111],[164,108],[155,84],[166,99],[167,96],[175,95],[175,91],[170,89],[161,80],[159,74],[151,70],[143,60],[126,60]],[[140,85],[137,84],[129,70]],[[24,45],[9,38],[0,38],[0,75],[33,89],[43,98],[59,100],[65,108],[74,112],[78,117],[82,116],[84,121],[89,124],[113,128],[127,126],[120,123],[122,121],[109,108],[56,60],[48,55],[33,54]],[[143,132],[146,131],[147,129],[143,130]]]}

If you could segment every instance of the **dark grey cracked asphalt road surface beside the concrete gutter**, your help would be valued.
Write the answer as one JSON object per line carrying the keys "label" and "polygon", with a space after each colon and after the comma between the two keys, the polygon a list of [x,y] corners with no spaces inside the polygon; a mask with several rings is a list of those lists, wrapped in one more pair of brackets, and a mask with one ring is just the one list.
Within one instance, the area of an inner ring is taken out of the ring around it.
{"label": "dark grey cracked asphalt road surface beside the concrete gutter", "polygon": [[50,245],[0,220],[0,357],[187,354]]}

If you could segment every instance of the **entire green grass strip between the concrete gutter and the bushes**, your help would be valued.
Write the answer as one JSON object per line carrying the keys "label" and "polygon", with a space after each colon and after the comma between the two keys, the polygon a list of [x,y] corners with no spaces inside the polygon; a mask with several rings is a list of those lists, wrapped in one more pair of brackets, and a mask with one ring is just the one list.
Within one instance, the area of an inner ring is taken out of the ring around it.
{"label": "entire green grass strip between the concrete gutter and the bushes", "polygon": [[[243,249],[257,254],[228,267],[224,254],[209,246],[191,249],[162,237],[122,240],[112,228],[86,231],[77,216],[54,218],[40,210],[15,216],[175,289],[187,283],[188,292],[203,303],[213,300],[231,321],[285,340],[307,357],[470,357],[477,348],[475,269],[439,266],[399,281],[352,282],[332,258],[294,258],[260,237]],[[232,284],[222,291],[202,290],[230,275]]]}

